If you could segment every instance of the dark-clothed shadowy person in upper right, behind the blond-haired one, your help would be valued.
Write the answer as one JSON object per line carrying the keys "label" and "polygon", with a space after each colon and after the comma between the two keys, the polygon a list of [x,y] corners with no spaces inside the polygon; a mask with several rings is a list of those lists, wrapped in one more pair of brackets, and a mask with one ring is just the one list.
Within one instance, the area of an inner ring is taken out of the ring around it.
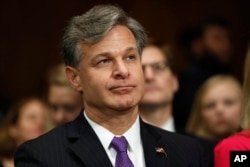
{"label": "dark-clothed shadowy person in upper right, behind the blond-haired one", "polygon": [[180,89],[174,99],[174,114],[182,115],[176,124],[185,128],[200,85],[213,75],[232,74],[232,44],[229,24],[222,18],[202,21],[184,31],[180,40],[190,65],[178,75]]}

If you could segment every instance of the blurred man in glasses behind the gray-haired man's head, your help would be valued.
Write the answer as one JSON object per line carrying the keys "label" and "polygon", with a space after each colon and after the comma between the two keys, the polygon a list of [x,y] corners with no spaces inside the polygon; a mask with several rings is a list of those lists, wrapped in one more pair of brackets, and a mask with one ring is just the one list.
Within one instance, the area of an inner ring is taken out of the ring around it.
{"label": "blurred man in glasses behind the gray-haired man's head", "polygon": [[149,39],[142,52],[145,93],[139,103],[142,119],[165,130],[175,132],[172,100],[179,84],[173,72],[169,47]]}

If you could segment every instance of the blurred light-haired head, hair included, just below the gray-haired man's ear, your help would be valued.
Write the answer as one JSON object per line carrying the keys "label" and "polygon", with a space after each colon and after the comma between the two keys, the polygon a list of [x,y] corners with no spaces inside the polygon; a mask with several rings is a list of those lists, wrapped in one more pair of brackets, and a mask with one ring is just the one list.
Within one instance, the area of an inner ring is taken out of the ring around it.
{"label": "blurred light-haired head, hair included, just below the gray-haired man's ear", "polygon": [[49,73],[48,102],[55,124],[73,121],[82,111],[81,94],[70,86],[64,64],[58,64]]}

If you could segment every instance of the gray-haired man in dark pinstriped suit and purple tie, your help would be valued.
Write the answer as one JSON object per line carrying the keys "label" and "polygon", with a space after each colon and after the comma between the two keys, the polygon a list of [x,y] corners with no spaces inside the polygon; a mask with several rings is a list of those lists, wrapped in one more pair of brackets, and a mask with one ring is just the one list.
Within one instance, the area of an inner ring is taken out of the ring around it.
{"label": "gray-haired man in dark pinstriped suit and purple tie", "polygon": [[142,26],[115,6],[96,6],[74,17],[63,37],[63,58],[69,82],[82,93],[84,111],[21,145],[15,166],[202,166],[196,141],[138,116],[145,40]]}

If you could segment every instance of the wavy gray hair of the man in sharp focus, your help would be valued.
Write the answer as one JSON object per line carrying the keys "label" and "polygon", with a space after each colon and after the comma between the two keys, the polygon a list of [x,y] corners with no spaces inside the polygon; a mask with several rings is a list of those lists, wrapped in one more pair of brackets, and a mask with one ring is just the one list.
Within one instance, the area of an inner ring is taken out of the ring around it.
{"label": "wavy gray hair of the man in sharp focus", "polygon": [[62,44],[64,63],[78,67],[83,55],[80,44],[98,43],[116,25],[124,25],[133,33],[141,55],[147,38],[141,24],[119,7],[97,5],[83,15],[73,17],[66,27]]}

